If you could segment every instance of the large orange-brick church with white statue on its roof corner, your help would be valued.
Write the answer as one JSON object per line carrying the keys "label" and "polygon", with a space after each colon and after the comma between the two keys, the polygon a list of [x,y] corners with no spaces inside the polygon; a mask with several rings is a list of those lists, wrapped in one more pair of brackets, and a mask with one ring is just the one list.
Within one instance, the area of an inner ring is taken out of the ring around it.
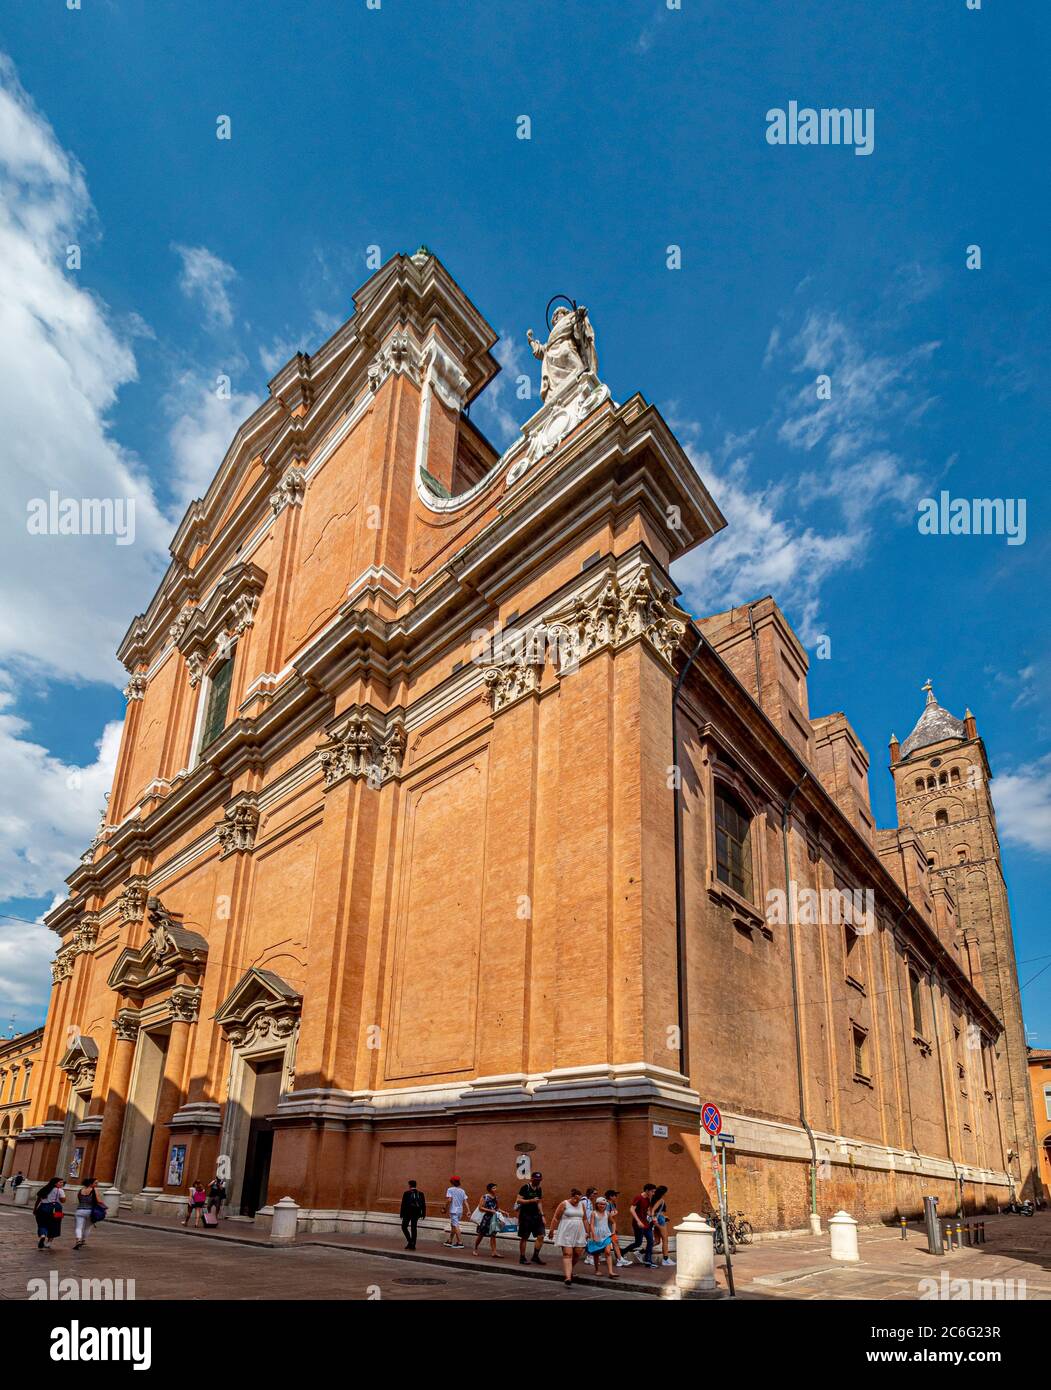
{"label": "large orange-brick church with white statue on its roof corner", "polygon": [[492,329],[396,256],[188,509],[47,919],[28,1170],[83,1148],[178,1213],[220,1165],[232,1212],[291,1195],[317,1229],[531,1166],[710,1209],[709,1099],[760,1229],[991,1207],[1032,1180],[1013,965],[961,926],[948,796],[905,784],[931,748],[877,831],[774,602],[680,606],[724,518],[659,411],[612,399],[582,307],[530,341],[542,403],[498,455],[469,417]]}

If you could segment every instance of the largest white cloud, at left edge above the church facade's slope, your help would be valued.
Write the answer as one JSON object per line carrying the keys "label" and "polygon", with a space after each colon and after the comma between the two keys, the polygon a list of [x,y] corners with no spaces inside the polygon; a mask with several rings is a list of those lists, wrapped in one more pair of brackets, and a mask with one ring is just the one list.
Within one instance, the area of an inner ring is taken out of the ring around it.
{"label": "largest white cloud, at left edge above the church facade's slope", "polygon": [[[114,649],[129,603],[145,602],[170,527],[107,414],[135,379],[132,321],[64,270],[70,243],[92,238],[83,174],[0,56],[0,663],[70,680],[117,681]],[[129,499],[135,543],[113,535],[29,535],[28,505],[60,498]],[[76,596],[76,623],[70,600]]]}

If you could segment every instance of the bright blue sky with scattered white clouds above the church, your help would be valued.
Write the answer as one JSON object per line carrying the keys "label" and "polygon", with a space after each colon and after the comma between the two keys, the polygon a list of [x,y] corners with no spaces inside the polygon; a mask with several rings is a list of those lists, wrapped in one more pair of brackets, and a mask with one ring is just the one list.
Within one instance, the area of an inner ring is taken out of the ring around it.
{"label": "bright blue sky with scattered white clouds above the church", "polygon": [[[38,917],[90,840],[113,651],[186,500],[277,367],[349,316],[367,247],[425,242],[500,332],[502,378],[535,374],[553,293],[588,304],[614,396],[662,409],[730,520],[677,574],[690,606],[772,592],[812,651],[829,637],[810,708],[855,724],[880,824],[923,681],[975,710],[1051,1045],[1048,28],[1004,0],[8,8],[3,910]],[[873,153],[769,145],[790,100],[872,107]],[[473,407],[499,443],[527,413],[512,381]],[[51,486],[135,495],[135,545],[31,541]],[[919,535],[941,488],[1025,498],[1026,543]],[[0,927],[0,1030],[42,1017],[50,954]]]}

